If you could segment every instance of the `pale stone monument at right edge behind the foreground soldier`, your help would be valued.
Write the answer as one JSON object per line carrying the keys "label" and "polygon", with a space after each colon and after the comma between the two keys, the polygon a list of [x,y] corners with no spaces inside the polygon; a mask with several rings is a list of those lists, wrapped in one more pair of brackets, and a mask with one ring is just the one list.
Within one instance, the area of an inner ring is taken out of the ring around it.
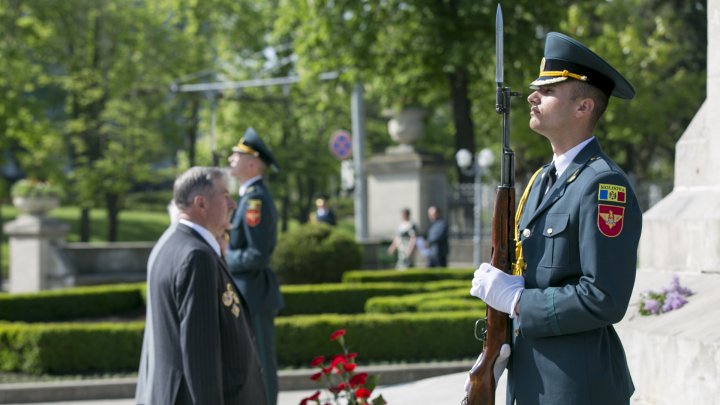
{"label": "pale stone monument at right edge behind the foreground soldier", "polygon": [[[618,324],[633,400],[720,404],[720,0],[708,0],[707,98],[677,143],[673,191],[643,216],[638,275]],[[673,274],[688,303],[640,316],[639,295]]]}

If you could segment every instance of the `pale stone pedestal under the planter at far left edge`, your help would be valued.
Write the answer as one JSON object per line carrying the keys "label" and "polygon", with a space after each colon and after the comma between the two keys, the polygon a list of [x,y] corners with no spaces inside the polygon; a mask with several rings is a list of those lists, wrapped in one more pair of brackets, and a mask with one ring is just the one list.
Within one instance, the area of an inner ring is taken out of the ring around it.
{"label": "pale stone pedestal under the planter at far left edge", "polygon": [[60,255],[69,226],[40,215],[22,214],[5,224],[10,240],[11,293],[36,292],[73,285]]}

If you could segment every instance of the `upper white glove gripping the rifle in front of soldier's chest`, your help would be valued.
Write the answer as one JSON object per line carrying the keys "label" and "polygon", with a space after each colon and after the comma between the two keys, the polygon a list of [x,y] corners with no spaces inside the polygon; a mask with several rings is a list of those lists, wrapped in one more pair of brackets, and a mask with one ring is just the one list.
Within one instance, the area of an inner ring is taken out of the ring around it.
{"label": "upper white glove gripping the rifle in front of soldier's chest", "polygon": [[475,270],[470,295],[480,298],[491,307],[514,318],[515,305],[520,300],[524,286],[525,279],[522,276],[512,276],[488,263],[483,263]]}

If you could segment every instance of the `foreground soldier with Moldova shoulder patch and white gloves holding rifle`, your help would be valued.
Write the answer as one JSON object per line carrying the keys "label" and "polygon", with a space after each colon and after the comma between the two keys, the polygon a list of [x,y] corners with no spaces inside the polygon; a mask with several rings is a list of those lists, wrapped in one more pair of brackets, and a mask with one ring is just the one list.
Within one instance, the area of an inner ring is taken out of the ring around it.
{"label": "foreground soldier with Moldova shoulder patch and white gloves holding rifle", "polygon": [[632,85],[578,41],[549,33],[528,96],[553,161],[520,199],[515,275],[483,263],[471,294],[510,314],[508,404],[620,405],[634,391],[613,324],[635,282],[642,212],[593,136],[610,96]]}

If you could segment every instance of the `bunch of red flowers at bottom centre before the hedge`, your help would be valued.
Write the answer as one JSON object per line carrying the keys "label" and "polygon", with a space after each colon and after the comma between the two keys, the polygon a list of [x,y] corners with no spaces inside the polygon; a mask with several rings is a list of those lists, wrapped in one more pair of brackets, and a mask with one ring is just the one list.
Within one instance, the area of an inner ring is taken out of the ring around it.
{"label": "bunch of red flowers at bottom centre before the hedge", "polygon": [[[382,395],[370,399],[372,391],[377,386],[377,377],[368,373],[358,373],[355,363],[357,353],[350,353],[345,345],[345,329],[336,330],[330,335],[330,341],[337,341],[342,353],[332,357],[317,356],[310,366],[320,369],[310,376],[310,379],[325,384],[328,392],[323,395],[316,391],[313,395],[303,398],[300,405],[322,404],[329,405],[384,405]],[[332,402],[331,402],[332,401]]]}

